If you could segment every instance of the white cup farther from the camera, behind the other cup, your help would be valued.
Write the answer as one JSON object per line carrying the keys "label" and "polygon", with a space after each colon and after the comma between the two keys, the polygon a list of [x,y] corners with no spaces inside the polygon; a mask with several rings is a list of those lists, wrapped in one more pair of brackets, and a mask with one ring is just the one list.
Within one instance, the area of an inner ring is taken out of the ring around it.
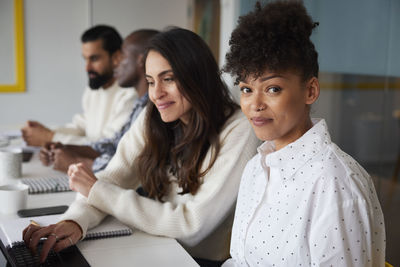
{"label": "white cup farther from the camera, behind the other cup", "polygon": [[[0,181],[7,181],[22,175],[22,149],[0,149]],[[0,183],[1,184],[1,183]]]}

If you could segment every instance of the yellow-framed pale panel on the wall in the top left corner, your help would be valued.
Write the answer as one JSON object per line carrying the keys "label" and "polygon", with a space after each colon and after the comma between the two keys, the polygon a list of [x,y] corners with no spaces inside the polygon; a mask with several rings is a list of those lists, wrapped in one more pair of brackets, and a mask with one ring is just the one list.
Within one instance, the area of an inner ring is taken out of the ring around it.
{"label": "yellow-framed pale panel on the wall in the top left corner", "polygon": [[23,0],[0,2],[0,92],[25,91]]}

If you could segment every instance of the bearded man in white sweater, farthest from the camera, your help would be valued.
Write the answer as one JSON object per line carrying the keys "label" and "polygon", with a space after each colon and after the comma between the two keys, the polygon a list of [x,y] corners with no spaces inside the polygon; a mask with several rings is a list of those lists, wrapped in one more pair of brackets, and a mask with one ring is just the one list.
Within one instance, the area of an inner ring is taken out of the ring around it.
{"label": "bearded man in white sweater, farthest from the camera", "polygon": [[119,87],[114,68],[121,58],[122,38],[110,26],[98,25],[85,31],[81,37],[82,55],[89,77],[89,87],[82,97],[82,114],[76,114],[71,123],[49,129],[36,121],[27,121],[21,129],[25,142],[44,146],[47,142],[87,144],[110,138],[129,118],[135,90]]}

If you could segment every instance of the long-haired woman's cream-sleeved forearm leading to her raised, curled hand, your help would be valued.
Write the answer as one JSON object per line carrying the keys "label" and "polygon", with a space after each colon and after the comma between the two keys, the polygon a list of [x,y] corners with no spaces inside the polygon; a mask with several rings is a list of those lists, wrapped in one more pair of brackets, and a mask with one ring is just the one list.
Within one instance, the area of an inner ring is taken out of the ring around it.
{"label": "long-haired woman's cream-sleeved forearm leading to her raised, curled hand", "polygon": [[[186,204],[161,203],[139,196],[134,189],[126,190],[102,181],[92,187],[88,203],[132,228],[173,238],[194,235],[203,225],[204,219],[204,216],[196,214],[203,212],[197,208]],[[212,221],[215,218],[209,219]]]}

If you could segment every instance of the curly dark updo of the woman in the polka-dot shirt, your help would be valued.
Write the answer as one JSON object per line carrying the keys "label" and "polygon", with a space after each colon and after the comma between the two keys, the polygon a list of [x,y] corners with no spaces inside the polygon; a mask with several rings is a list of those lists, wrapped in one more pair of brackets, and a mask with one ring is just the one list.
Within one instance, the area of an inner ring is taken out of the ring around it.
{"label": "curly dark updo of the woman in the polka-dot shirt", "polygon": [[318,25],[298,1],[276,1],[239,17],[229,41],[224,71],[236,84],[268,71],[298,71],[303,81],[318,77],[318,53],[310,40]]}

